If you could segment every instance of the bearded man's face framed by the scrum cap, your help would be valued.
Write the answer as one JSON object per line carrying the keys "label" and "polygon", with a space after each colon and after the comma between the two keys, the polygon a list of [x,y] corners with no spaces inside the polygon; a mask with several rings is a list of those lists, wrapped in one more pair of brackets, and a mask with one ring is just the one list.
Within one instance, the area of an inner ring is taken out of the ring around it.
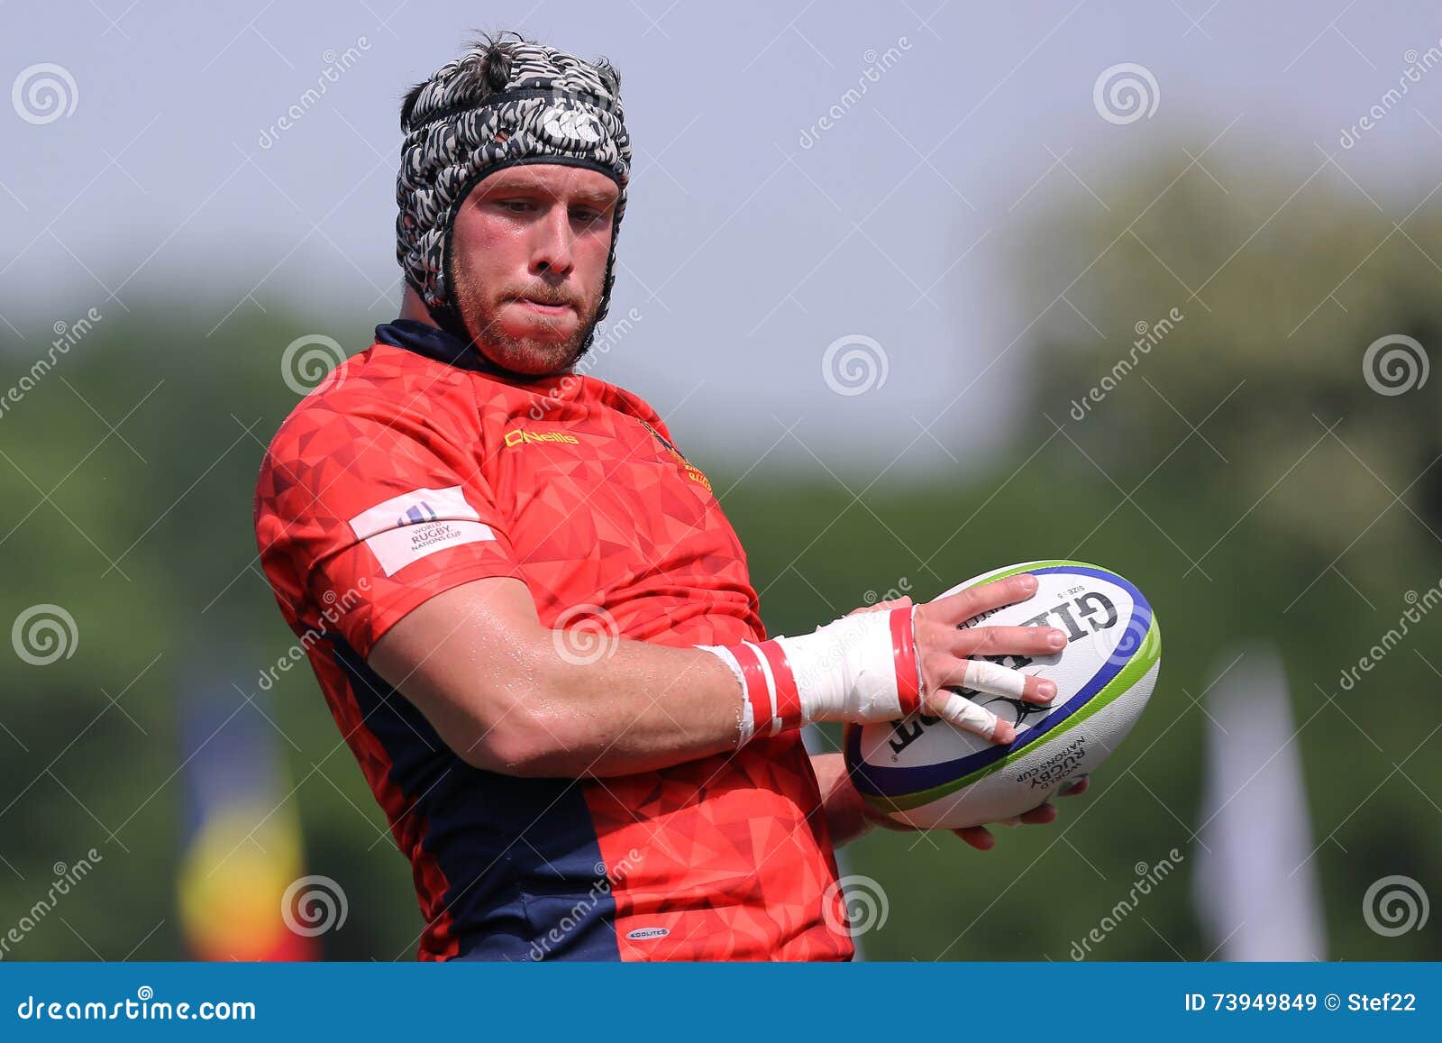
{"label": "bearded man's face framed by the scrum cap", "polygon": [[619,195],[596,170],[536,163],[466,196],[451,239],[456,300],[493,362],[539,377],[575,361],[601,304]]}

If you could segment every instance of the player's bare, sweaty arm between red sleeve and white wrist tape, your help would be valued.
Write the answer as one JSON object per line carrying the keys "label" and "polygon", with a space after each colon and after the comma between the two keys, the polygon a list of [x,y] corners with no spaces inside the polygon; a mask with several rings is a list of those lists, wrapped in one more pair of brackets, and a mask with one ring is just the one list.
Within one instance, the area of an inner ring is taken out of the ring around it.
{"label": "player's bare, sweaty arm between red sleeve and white wrist tape", "polygon": [[695,648],[551,630],[513,578],[437,594],[368,664],[473,767],[575,779],[734,750],[741,685]]}

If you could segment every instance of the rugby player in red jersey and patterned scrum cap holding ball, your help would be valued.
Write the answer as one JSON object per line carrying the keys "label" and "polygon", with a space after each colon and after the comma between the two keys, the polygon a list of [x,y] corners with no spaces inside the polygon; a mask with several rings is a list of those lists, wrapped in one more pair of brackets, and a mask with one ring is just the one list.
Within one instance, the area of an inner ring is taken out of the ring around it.
{"label": "rugby player in red jersey and patterned scrum cap holding ball", "polygon": [[626,209],[619,88],[500,35],[405,95],[401,314],[270,444],[261,561],[411,863],[421,959],[849,959],[835,848],[894,824],[802,729],[924,710],[1011,741],[959,690],[1054,685],[969,656],[1064,635],[959,629],[1019,576],[767,639],[705,473],[577,365]]}

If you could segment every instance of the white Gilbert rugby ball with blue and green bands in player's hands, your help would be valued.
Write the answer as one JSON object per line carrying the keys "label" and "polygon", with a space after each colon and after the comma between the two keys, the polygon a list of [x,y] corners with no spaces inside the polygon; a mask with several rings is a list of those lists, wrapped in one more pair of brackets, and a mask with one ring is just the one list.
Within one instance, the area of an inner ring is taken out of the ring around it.
{"label": "white Gilbert rugby ball with blue and green bands in player's hands", "polygon": [[1025,602],[962,626],[1054,626],[1069,635],[1053,655],[988,656],[1057,684],[1050,704],[956,688],[1017,726],[1009,744],[913,714],[848,724],[846,769],[857,791],[891,818],[923,829],[998,822],[1048,801],[1090,773],[1132,730],[1161,669],[1156,613],[1136,587],[1083,561],[1027,561],[959,583],[955,594],[1017,573],[1037,577]]}

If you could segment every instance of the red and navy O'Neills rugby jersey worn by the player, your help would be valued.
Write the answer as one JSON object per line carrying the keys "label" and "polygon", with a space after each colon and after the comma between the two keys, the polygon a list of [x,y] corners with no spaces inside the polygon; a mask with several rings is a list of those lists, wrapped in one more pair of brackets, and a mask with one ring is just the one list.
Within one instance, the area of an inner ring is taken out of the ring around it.
{"label": "red and navy O'Neills rugby jersey worn by the player", "polygon": [[846,959],[845,905],[799,733],[607,779],[470,767],[365,664],[472,580],[541,623],[659,645],[766,638],[705,475],[636,395],[495,372],[418,322],[376,329],[284,421],[255,499],[261,563],[411,860],[421,959]]}

